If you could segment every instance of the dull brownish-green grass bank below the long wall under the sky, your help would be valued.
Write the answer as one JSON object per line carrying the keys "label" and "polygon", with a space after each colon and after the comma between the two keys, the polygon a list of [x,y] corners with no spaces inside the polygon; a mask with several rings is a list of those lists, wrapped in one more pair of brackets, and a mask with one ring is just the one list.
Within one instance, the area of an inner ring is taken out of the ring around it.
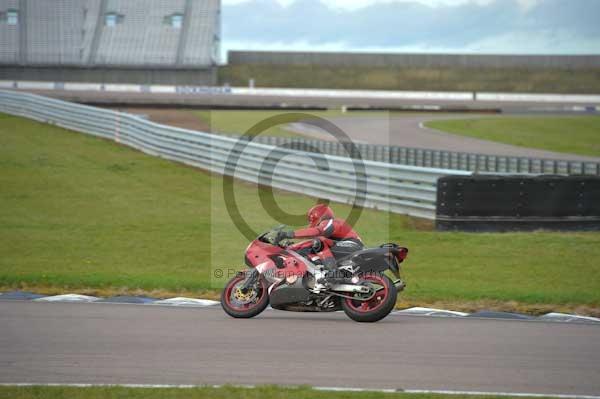
{"label": "dull brownish-green grass bank below the long wall under the sky", "polygon": [[600,92],[600,69],[402,68],[327,65],[230,64],[219,81],[259,87],[352,90],[492,91],[520,93]]}

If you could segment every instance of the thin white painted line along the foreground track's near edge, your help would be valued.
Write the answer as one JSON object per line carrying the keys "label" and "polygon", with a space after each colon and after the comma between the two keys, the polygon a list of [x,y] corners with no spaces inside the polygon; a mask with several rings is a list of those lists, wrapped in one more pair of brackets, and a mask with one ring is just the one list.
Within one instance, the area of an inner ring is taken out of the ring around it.
{"label": "thin white painted line along the foreground track's near edge", "polygon": [[[0,383],[3,387],[71,387],[71,388],[150,388],[150,389],[194,389],[194,388],[223,388],[225,385],[168,385],[168,384],[87,384],[87,383]],[[227,385],[234,388],[254,389],[256,385]],[[297,386],[282,385],[283,389]],[[347,387],[311,387],[315,391],[325,392],[379,392],[407,394],[437,394],[437,395],[469,395],[469,396],[513,396],[524,398],[560,398],[560,399],[600,399],[597,395],[528,393],[528,392],[487,392],[487,391],[453,391],[435,389],[394,389],[394,388],[347,388]]]}

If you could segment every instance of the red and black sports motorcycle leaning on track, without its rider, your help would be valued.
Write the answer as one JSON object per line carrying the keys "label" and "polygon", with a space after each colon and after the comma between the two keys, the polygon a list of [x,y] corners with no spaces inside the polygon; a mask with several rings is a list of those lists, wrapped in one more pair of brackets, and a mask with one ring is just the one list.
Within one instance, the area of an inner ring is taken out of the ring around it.
{"label": "red and black sports motorcycle leaning on track, without its rider", "polygon": [[[302,250],[291,242],[276,242],[277,229],[254,240],[246,249],[250,270],[238,273],[221,294],[221,306],[235,318],[260,314],[269,304],[273,309],[295,312],[343,310],[352,320],[375,322],[394,308],[398,292],[405,287],[400,263],[408,249],[396,244],[359,250],[336,258],[337,269],[323,280],[319,253],[325,245],[315,239]],[[394,276],[394,281],[384,272]],[[331,275],[333,274],[333,275]]]}

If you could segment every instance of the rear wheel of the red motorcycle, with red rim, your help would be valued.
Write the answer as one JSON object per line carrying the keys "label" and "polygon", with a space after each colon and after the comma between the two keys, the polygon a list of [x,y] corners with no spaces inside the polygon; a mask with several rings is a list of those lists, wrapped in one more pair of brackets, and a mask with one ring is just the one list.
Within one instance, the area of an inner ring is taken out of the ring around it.
{"label": "rear wheel of the red motorcycle, with red rim", "polygon": [[371,294],[369,300],[342,299],[342,309],[348,317],[354,321],[363,323],[372,323],[383,319],[390,314],[396,299],[398,290],[392,280],[384,274],[367,274],[361,277],[361,283],[369,284],[375,289],[375,294]]}

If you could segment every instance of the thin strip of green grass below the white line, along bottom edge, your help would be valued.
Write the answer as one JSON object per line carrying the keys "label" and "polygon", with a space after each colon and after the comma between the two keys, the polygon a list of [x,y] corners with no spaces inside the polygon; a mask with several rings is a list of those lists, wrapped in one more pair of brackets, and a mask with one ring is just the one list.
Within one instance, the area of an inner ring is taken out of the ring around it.
{"label": "thin strip of green grass below the white line, along bottom edge", "polygon": [[[122,388],[122,387],[0,387],[0,398],[10,399],[442,399],[447,395],[378,392],[325,392],[310,387],[281,388]],[[452,395],[456,399],[500,398],[483,395]],[[510,398],[510,396],[502,396]]]}

